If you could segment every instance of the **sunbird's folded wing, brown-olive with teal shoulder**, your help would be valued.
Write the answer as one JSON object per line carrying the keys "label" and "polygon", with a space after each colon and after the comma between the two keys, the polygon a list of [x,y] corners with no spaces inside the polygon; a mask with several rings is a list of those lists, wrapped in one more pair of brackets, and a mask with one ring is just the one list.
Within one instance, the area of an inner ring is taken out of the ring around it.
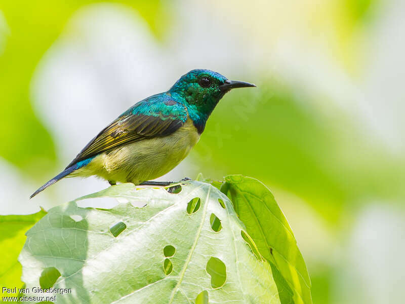
{"label": "sunbird's folded wing, brown-olive with teal shoulder", "polygon": [[152,96],[135,104],[94,137],[66,168],[114,147],[178,130],[187,120],[187,109],[165,97]]}

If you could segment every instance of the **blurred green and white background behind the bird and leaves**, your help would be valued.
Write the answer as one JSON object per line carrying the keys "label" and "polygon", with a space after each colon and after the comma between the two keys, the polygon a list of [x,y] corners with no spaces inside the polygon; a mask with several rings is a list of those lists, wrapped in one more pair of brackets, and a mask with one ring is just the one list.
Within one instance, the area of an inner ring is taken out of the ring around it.
{"label": "blurred green and white background behind the bird and leaves", "polygon": [[245,174],[290,221],[314,303],[399,303],[405,286],[405,3],[378,0],[0,3],[1,214],[98,191],[65,179],[105,125],[193,68],[227,94],[162,180]]}

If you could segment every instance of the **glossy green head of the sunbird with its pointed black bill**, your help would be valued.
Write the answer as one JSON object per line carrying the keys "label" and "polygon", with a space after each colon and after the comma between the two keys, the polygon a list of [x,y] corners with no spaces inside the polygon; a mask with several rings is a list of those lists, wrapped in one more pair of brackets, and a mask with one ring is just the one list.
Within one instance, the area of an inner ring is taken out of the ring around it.
{"label": "glossy green head of the sunbird with its pointed black bill", "polygon": [[253,84],[231,81],[208,69],[194,69],[183,75],[169,90],[179,94],[189,105],[201,111],[211,111],[218,101],[235,88],[256,87]]}

